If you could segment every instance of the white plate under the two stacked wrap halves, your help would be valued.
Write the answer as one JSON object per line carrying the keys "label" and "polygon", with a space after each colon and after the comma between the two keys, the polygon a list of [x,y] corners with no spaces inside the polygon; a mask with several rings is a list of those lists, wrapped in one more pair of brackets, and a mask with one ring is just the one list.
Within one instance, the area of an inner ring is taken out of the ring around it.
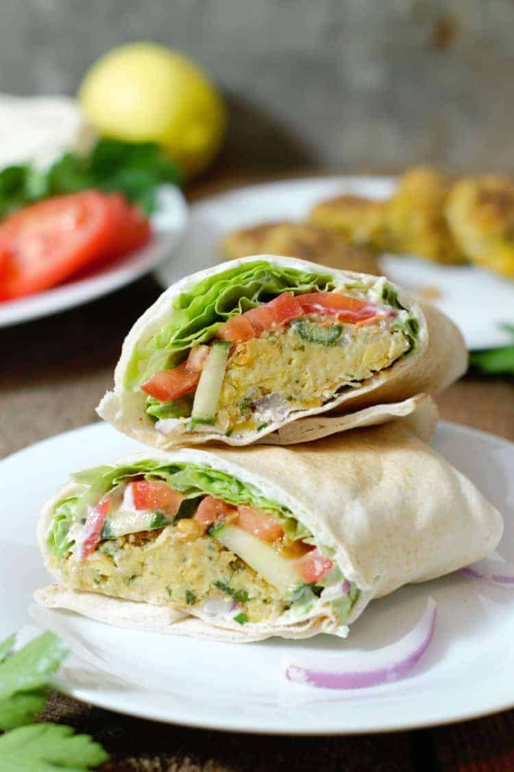
{"label": "white plate under the two stacked wrap halves", "polygon": [[[506,518],[499,553],[514,561],[514,445],[442,423],[435,448],[473,479]],[[0,462],[0,640],[29,621],[36,587],[50,577],[35,544],[39,507],[69,472],[141,449],[105,424],[67,432]],[[348,653],[394,642],[432,595],[435,635],[404,680],[347,692],[284,679],[284,656]],[[39,607],[36,607],[39,608]],[[228,645],[112,628],[66,611],[40,610],[76,657],[64,687],[121,713],[212,729],[344,734],[400,730],[480,716],[514,705],[514,591],[463,574],[404,587],[374,601],[342,641],[321,635]]]}

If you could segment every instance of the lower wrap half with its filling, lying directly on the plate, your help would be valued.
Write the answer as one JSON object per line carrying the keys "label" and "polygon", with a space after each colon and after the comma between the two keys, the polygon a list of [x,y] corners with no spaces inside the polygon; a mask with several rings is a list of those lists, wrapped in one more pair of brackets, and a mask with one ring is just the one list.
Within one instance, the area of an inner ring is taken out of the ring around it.
{"label": "lower wrap half with its filling, lying directly on the plate", "polygon": [[227,641],[345,637],[373,598],[479,560],[502,517],[408,422],[289,448],[146,452],[42,510],[39,603]]}

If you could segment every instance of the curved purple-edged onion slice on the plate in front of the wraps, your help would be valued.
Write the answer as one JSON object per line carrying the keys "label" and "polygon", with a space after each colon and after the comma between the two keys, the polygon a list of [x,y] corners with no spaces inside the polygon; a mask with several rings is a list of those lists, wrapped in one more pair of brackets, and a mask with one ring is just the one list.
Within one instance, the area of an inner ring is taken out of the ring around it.
{"label": "curved purple-edged onion slice on the plate in front of the wraps", "polygon": [[307,664],[291,659],[284,662],[289,681],[319,689],[365,689],[400,679],[418,662],[432,641],[437,604],[428,598],[418,622],[399,641],[368,654],[349,654],[341,660],[325,659]]}

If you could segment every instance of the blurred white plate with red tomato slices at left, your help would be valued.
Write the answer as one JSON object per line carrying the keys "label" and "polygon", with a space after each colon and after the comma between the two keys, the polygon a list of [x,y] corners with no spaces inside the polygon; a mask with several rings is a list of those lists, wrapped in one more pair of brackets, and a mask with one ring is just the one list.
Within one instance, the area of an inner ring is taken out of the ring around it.
{"label": "blurred white plate with red tomato slices at left", "polygon": [[92,190],[20,209],[0,226],[0,327],[133,282],[170,258],[186,222],[186,201],[173,185],[159,189],[149,219],[122,195]]}

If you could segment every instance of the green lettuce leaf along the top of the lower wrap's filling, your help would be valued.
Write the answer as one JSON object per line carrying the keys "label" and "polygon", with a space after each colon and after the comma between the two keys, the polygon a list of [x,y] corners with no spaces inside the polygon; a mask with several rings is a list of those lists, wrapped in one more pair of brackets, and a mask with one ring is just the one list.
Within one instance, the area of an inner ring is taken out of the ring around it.
{"label": "green lettuce leaf along the top of the lower wrap's filling", "polygon": [[[242,482],[210,466],[186,462],[163,464],[143,459],[132,466],[97,466],[77,472],[73,476],[73,479],[83,486],[83,493],[72,499],[63,499],[55,505],[55,518],[49,533],[49,547],[52,553],[59,556],[63,551],[69,550],[72,545],[69,540],[69,528],[73,522],[84,516],[88,505],[95,504],[104,493],[120,482],[141,474],[145,479],[165,480],[173,489],[186,496],[186,499],[209,494],[234,506],[250,503],[259,510],[274,513],[290,539],[311,536],[311,532],[302,523],[298,523],[286,506],[267,499],[249,482]],[[65,550],[59,547],[62,543],[66,545]]]}

